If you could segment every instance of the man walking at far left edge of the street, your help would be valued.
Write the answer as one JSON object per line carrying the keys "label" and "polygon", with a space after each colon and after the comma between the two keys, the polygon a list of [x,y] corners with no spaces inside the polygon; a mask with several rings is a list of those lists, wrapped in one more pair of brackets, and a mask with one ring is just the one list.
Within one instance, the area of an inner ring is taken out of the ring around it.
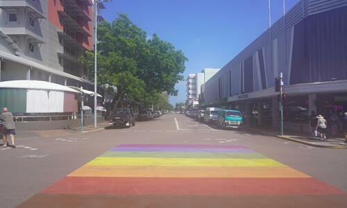
{"label": "man walking at far left edge of the street", "polygon": [[[13,114],[11,112],[8,112],[7,107],[3,107],[2,113],[0,114],[0,120],[3,121],[3,127],[5,128],[3,130],[3,134],[5,135],[6,139],[8,136],[11,138],[12,144],[8,144],[6,141],[6,144],[4,142],[3,145],[10,146],[12,148],[15,148],[15,134],[16,134],[16,127],[15,127],[15,121],[13,120]],[[5,140],[6,140],[5,139]]]}

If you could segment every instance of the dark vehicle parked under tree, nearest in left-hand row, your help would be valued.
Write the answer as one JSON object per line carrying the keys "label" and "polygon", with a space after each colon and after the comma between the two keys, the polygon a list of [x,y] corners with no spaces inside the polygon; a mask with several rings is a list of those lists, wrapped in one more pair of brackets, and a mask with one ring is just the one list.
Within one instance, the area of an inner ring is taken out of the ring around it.
{"label": "dark vehicle parked under tree, nearest in left-hand row", "polygon": [[128,107],[116,108],[110,113],[110,120],[113,126],[130,128],[130,125],[135,125],[134,114]]}

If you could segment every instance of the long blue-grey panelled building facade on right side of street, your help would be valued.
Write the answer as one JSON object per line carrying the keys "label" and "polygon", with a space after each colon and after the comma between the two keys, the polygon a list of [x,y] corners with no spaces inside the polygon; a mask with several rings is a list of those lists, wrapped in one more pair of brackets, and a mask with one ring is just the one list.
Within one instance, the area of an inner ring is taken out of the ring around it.
{"label": "long blue-grey panelled building facade on right side of street", "polygon": [[204,105],[239,109],[248,125],[277,126],[274,79],[283,75],[285,128],[310,130],[311,111],[347,112],[347,1],[302,0],[205,83]]}

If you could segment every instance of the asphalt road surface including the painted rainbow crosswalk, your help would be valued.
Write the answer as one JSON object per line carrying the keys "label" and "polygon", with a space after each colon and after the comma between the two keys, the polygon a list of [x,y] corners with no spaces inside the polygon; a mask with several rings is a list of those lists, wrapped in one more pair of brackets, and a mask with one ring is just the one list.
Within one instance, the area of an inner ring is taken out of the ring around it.
{"label": "asphalt road surface including the painted rainbow crosswalk", "polygon": [[0,148],[0,207],[347,207],[347,150],[180,114]]}

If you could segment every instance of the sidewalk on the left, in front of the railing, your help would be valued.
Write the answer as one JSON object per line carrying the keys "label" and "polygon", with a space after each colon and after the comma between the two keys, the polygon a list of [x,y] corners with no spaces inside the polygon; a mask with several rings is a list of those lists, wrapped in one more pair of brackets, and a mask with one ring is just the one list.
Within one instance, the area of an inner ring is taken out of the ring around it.
{"label": "sidewalk on the left, in front of the railing", "polygon": [[38,138],[51,138],[51,137],[66,137],[66,136],[76,136],[84,133],[96,132],[104,130],[105,127],[109,126],[109,122],[105,121],[98,123],[97,128],[94,125],[85,125],[83,127],[83,132],[81,132],[81,127],[70,128],[70,129],[58,129],[58,130],[33,130],[33,131],[16,131],[16,139],[38,139]]}

